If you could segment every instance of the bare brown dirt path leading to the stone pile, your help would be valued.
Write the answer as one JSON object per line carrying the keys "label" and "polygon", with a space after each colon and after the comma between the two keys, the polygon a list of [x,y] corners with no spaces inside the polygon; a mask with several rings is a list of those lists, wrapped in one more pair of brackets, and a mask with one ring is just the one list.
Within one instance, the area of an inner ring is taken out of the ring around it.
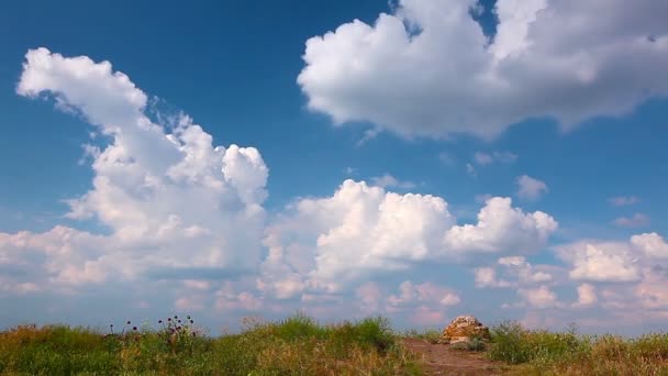
{"label": "bare brown dirt path leading to the stone pile", "polygon": [[422,358],[427,375],[503,375],[502,364],[485,358],[481,353],[417,339],[404,339],[403,343]]}

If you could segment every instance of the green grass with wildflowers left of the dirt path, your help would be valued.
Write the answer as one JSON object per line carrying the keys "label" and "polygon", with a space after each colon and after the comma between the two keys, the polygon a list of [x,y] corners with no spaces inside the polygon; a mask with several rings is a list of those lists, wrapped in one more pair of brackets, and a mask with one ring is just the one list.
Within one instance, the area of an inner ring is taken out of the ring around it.
{"label": "green grass with wildflowers left of the dirt path", "polygon": [[1,375],[413,375],[414,357],[382,318],[322,325],[297,314],[201,335],[176,319],[113,335],[23,325],[0,333]]}

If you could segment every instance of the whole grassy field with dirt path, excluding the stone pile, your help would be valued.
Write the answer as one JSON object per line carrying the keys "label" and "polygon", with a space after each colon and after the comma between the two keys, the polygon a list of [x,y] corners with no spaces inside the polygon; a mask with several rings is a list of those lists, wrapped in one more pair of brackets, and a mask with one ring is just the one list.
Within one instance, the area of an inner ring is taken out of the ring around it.
{"label": "whole grassy field with dirt path, excluding the stone pile", "polygon": [[2,375],[668,375],[668,334],[637,339],[492,328],[492,341],[437,344],[438,332],[393,332],[369,318],[248,319],[238,334],[202,335],[189,317],[158,329],[22,325],[0,333]]}

